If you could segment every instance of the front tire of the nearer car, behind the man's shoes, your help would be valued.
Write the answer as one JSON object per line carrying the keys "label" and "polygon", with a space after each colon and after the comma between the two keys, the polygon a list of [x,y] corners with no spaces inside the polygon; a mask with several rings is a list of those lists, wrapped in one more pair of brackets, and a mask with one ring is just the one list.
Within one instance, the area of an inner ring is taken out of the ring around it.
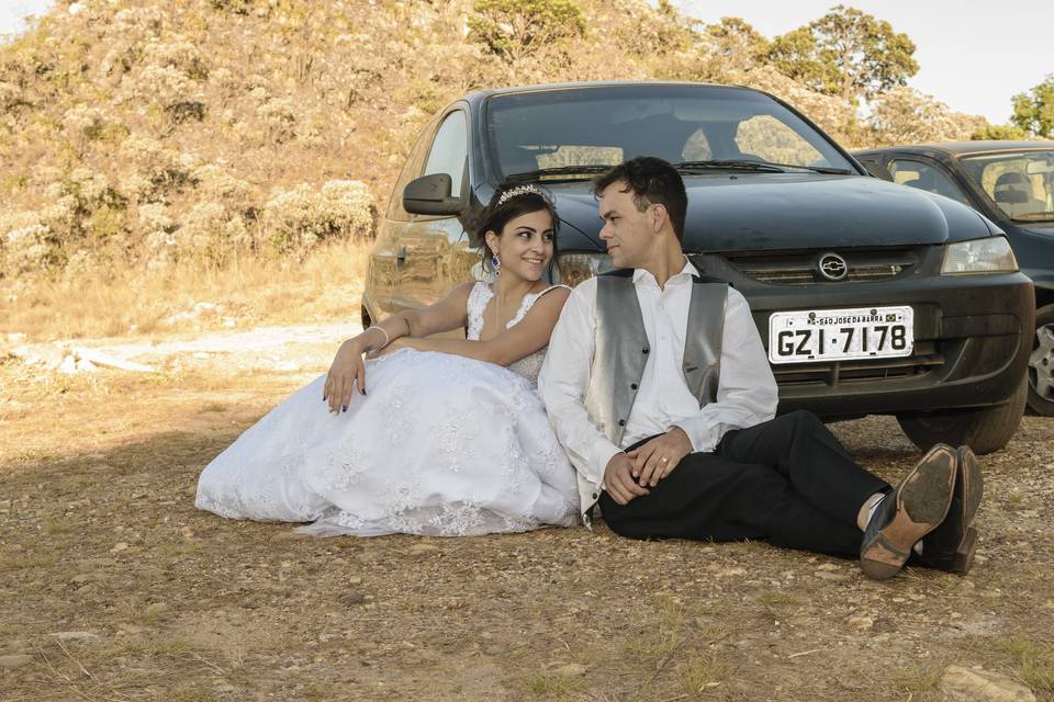
{"label": "front tire of the nearer car, behind the man's shoes", "polygon": [[1022,378],[1010,400],[985,409],[958,409],[929,415],[897,415],[897,422],[920,451],[934,443],[968,445],[985,454],[1007,445],[1021,423],[1029,384]]}

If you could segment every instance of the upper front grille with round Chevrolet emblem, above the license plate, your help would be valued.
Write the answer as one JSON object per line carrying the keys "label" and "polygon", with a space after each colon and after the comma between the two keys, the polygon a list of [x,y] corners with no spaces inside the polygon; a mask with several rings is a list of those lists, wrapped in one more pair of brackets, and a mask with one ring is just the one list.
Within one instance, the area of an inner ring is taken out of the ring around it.
{"label": "upper front grille with round Chevrolet emblem, above the license plate", "polygon": [[[740,273],[769,285],[812,285],[831,283],[820,275],[817,262],[830,249],[778,253],[730,253],[725,260]],[[844,249],[836,251],[845,259],[849,272],[838,283],[870,283],[896,278],[918,262],[915,249]]]}

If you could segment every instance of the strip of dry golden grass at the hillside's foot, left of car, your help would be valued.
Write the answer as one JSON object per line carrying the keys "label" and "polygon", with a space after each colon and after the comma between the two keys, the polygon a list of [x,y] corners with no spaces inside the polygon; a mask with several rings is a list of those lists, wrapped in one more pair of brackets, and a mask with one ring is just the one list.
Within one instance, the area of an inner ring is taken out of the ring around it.
{"label": "strip of dry golden grass at the hillside's foot, left of car", "polygon": [[[369,247],[336,241],[302,261],[246,257],[223,268],[125,265],[78,278],[26,279],[18,297],[0,297],[0,332],[46,341],[220,328],[228,319],[238,326],[358,319]],[[216,308],[191,316],[195,303]]]}

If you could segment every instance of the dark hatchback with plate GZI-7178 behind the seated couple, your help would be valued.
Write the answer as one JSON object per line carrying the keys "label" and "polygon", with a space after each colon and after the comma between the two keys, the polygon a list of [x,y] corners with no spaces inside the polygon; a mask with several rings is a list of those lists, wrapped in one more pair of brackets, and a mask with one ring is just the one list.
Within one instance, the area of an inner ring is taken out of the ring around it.
{"label": "dark hatchback with plate GZI-7178 behind the seated couple", "polygon": [[927,448],[983,453],[1010,439],[1034,305],[1003,233],[961,203],[871,178],[793,107],[747,88],[575,83],[451,103],[395,185],[363,322],[483,274],[464,217],[506,179],[556,195],[552,280],[604,271],[591,179],[639,155],[684,176],[685,252],[750,302],[781,411],[895,415]]}

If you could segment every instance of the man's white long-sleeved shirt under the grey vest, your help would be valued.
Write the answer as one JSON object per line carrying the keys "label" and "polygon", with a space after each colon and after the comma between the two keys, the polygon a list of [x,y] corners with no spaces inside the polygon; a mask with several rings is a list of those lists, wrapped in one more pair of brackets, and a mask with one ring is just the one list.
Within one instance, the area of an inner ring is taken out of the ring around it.
{"label": "man's white long-sleeved shirt under the grey vest", "polygon": [[684,268],[660,288],[650,272],[633,271],[652,352],[626,421],[621,446],[602,433],[584,400],[593,365],[596,279],[575,287],[563,306],[549,340],[538,390],[557,438],[593,491],[603,487],[604,469],[612,456],[641,439],[680,427],[693,451],[708,452],[717,448],[725,432],[775,417],[778,395],[772,369],[747,299],[731,287],[725,308],[717,401],[699,408],[688,389],[682,363],[693,275],[698,271],[685,260]]}

